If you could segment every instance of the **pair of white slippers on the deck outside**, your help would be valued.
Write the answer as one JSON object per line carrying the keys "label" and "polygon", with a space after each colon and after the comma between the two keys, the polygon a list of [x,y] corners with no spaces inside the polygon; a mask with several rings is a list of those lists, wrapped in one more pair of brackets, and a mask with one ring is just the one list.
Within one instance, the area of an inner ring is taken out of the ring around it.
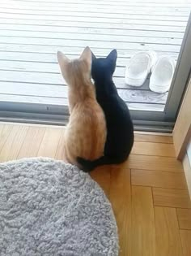
{"label": "pair of white slippers on the deck outside", "polygon": [[155,93],[165,93],[170,89],[175,71],[175,61],[166,56],[159,56],[155,51],[142,51],[130,59],[125,71],[125,84],[142,86],[151,73],[149,88]]}

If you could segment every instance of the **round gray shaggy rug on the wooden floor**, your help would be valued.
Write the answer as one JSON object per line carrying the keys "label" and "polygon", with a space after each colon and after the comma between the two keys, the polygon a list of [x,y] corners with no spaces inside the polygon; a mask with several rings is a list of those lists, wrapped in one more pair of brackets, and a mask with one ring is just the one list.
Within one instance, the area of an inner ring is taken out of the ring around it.
{"label": "round gray shaggy rug on the wooden floor", "polygon": [[100,186],[51,158],[0,164],[1,256],[116,256],[117,225]]}

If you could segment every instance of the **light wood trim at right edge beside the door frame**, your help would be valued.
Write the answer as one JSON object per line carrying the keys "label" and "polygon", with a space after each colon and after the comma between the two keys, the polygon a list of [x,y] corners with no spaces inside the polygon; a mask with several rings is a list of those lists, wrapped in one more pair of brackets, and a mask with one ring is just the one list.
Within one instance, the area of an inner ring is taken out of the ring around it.
{"label": "light wood trim at right edge beside the door frame", "polygon": [[186,147],[191,137],[191,79],[185,93],[179,115],[176,119],[173,131],[173,141],[176,150],[176,157],[182,160],[185,156]]}

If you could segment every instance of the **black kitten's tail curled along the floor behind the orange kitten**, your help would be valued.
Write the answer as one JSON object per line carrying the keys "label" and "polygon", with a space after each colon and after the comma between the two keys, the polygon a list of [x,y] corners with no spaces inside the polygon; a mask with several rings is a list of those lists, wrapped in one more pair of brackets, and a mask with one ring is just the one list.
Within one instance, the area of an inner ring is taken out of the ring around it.
{"label": "black kitten's tail curled along the floor behind the orange kitten", "polygon": [[127,156],[123,158],[121,157],[113,158],[108,156],[102,156],[100,158],[97,158],[96,160],[91,161],[91,160],[77,157],[77,161],[83,167],[83,171],[90,172],[100,165],[123,163],[125,162],[126,158]]}

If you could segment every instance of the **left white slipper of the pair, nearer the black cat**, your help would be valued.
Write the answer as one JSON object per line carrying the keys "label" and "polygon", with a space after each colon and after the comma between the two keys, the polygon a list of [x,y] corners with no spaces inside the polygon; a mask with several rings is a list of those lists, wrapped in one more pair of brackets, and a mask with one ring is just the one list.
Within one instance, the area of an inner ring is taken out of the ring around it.
{"label": "left white slipper of the pair, nearer the black cat", "polygon": [[155,65],[157,54],[155,51],[140,51],[130,59],[125,70],[125,84],[142,86]]}

